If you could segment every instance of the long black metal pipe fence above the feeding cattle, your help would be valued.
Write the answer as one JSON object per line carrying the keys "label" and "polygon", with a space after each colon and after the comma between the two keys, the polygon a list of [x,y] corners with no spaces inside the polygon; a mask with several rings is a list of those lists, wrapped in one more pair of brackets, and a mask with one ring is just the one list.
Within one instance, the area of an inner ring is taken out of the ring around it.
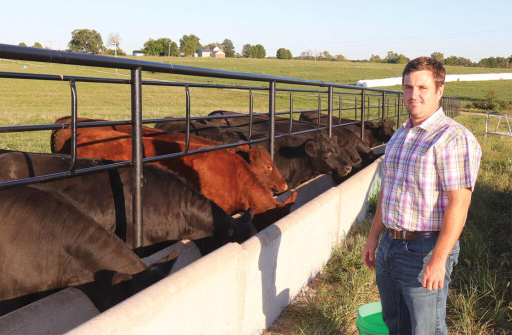
{"label": "long black metal pipe fence above the feeding cattle", "polygon": [[[16,125],[0,127],[0,133],[6,132],[25,132],[25,131],[39,131],[39,130],[55,130],[71,128],[71,156],[72,163],[70,170],[67,173],[56,173],[46,176],[38,176],[27,179],[13,180],[0,182],[0,190],[10,187],[26,185],[35,182],[45,182],[51,180],[58,180],[69,178],[73,176],[80,176],[83,174],[94,173],[98,171],[105,171],[108,169],[117,169],[124,166],[132,166],[133,168],[133,231],[134,231],[134,249],[138,255],[142,255],[142,177],[143,169],[142,164],[146,162],[154,162],[161,159],[181,157],[189,154],[197,154],[211,150],[231,148],[233,146],[254,143],[259,141],[268,140],[269,153],[273,158],[273,147],[275,138],[284,135],[275,134],[275,117],[287,116],[290,118],[289,134],[300,134],[309,131],[301,131],[292,133],[292,118],[302,112],[327,112],[329,116],[329,123],[327,126],[318,124],[318,129],[327,129],[329,136],[332,134],[332,127],[339,127],[340,125],[352,124],[361,122],[361,138],[364,137],[364,122],[367,120],[378,120],[381,118],[396,118],[397,124],[400,124],[400,119],[403,115],[403,101],[402,92],[378,88],[366,88],[353,85],[343,85],[335,82],[326,82],[319,80],[306,80],[298,78],[287,78],[278,76],[269,76],[253,73],[232,72],[224,70],[205,69],[189,66],[180,66],[173,64],[165,64],[160,62],[145,61],[139,59],[115,58],[111,56],[97,56],[88,54],[79,54],[73,52],[63,52],[48,49],[38,49],[29,47],[12,46],[0,44],[0,55],[2,58],[28,60],[39,62],[52,62],[58,64],[69,64],[86,67],[102,67],[102,68],[115,68],[126,69],[131,72],[131,79],[117,79],[117,78],[99,78],[99,77],[83,77],[83,76],[69,76],[69,75],[52,75],[52,74],[35,74],[35,73],[17,73],[17,72],[0,72],[0,78],[11,79],[33,79],[33,80],[56,80],[56,81],[69,81],[71,88],[71,122],[70,123],[54,123],[54,124],[38,124],[38,125]],[[263,86],[256,86],[254,84],[247,86],[240,85],[220,85],[214,83],[191,83],[191,82],[168,82],[168,81],[153,81],[142,80],[142,71],[160,72],[168,74],[179,74],[199,77],[212,77],[233,80],[248,80],[250,82],[261,82]],[[99,122],[79,122],[77,123],[77,99],[78,93],[76,90],[77,82],[89,83],[116,83],[131,86],[131,110],[132,115],[130,120],[118,121],[99,121]],[[266,84],[265,84],[266,83]],[[142,86],[167,86],[167,87],[183,87],[185,90],[185,116],[184,117],[165,117],[144,119],[142,111]],[[278,85],[293,85],[299,87],[316,87],[311,88],[285,88],[278,87]],[[249,137],[245,142],[229,143],[223,145],[212,146],[211,148],[188,150],[190,141],[190,121],[192,120],[209,120],[224,118],[223,115],[212,116],[191,116],[190,113],[190,91],[189,88],[204,88],[216,90],[238,90],[240,92],[247,92],[249,96],[248,114],[230,115],[229,117],[247,117],[249,116]],[[253,92],[254,91],[268,91],[268,113],[253,113]],[[316,94],[318,105],[316,109],[294,110],[293,97],[294,94]],[[289,95],[289,110],[276,111],[276,94]],[[337,106],[334,101],[337,97]],[[322,98],[327,99],[327,108],[323,108]],[[376,101],[377,100],[377,101]],[[376,102],[375,102],[376,101]],[[459,101],[453,97],[443,97],[441,106],[445,113],[450,117],[455,117],[459,113]],[[333,124],[332,116],[337,112],[339,119],[342,119],[342,112],[353,111],[353,121],[342,123],[341,120],[337,124]],[[253,116],[265,115],[269,117],[268,138],[253,140],[252,135],[252,118]],[[186,143],[185,150],[181,153],[167,154],[157,157],[142,157],[142,125],[147,123],[156,122],[170,122],[175,120],[184,120],[186,126]],[[132,160],[117,162],[109,165],[98,166],[95,168],[75,170],[74,161],[76,159],[76,136],[77,128],[99,127],[102,125],[132,125]],[[314,131],[314,130],[312,130]],[[137,182],[138,181],[138,182]]]}

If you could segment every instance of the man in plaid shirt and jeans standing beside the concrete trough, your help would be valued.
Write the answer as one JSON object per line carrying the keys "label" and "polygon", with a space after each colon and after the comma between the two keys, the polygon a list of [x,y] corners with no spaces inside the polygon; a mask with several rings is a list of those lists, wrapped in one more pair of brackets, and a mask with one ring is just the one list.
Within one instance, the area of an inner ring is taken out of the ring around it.
{"label": "man in plaid shirt and jeans standing beside the concrete trough", "polygon": [[[481,148],[439,107],[445,70],[419,57],[402,73],[410,118],[388,142],[363,260],[375,269],[390,334],[446,334],[446,296]],[[382,234],[377,256],[378,237]]]}

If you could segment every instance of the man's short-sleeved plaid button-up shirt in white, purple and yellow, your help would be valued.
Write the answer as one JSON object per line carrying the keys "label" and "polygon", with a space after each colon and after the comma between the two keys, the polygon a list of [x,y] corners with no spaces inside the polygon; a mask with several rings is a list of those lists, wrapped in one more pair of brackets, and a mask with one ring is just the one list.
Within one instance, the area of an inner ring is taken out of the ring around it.
{"label": "man's short-sleeved plaid button-up shirt in white, purple and yellow", "polygon": [[409,118],[386,147],[382,222],[399,231],[440,231],[444,191],[475,186],[482,149],[439,108],[412,128]]}

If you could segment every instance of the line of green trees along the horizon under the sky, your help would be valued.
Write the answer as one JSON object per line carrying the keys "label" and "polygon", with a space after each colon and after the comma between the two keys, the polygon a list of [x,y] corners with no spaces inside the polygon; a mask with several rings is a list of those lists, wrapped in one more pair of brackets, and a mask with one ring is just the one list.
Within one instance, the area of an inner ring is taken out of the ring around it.
{"label": "line of green trees along the horizon under the sky", "polygon": [[[89,54],[110,54],[110,55],[126,55],[125,52],[119,47],[121,42],[119,33],[110,34],[107,45],[113,46],[114,49],[106,48],[103,45],[101,34],[96,30],[90,29],[75,29],[71,32],[71,40],[68,43],[67,51],[81,52]],[[27,46],[25,43],[20,43],[20,46]],[[265,58],[266,51],[263,45],[250,45],[245,44],[242,47],[242,52],[235,51],[233,43],[230,39],[226,38],[222,43],[210,43],[201,45],[200,38],[194,34],[183,35],[179,39],[179,46],[176,41],[168,37],[160,37],[157,39],[150,38],[145,41],[141,52],[146,55],[152,56],[193,56],[196,52],[203,48],[211,49],[219,47],[225,53],[227,58],[243,57],[243,58]],[[42,48],[38,42],[34,43],[32,47]],[[47,47],[48,48],[48,47]],[[465,67],[483,67],[483,68],[502,68],[509,69],[512,67],[512,55],[509,57],[488,57],[482,58],[478,62],[473,62],[468,58],[450,56],[444,57],[444,54],[438,51],[430,55],[442,62],[447,66],[465,66]],[[354,62],[376,62],[388,64],[407,64],[410,59],[403,54],[398,54],[394,51],[389,51],[384,58],[378,55],[372,55],[369,59],[349,60],[344,55],[331,55],[328,51],[307,50],[303,51],[299,56],[293,57],[290,50],[279,48],[275,57],[278,59],[297,59],[297,60],[319,60],[319,61],[354,61]]]}

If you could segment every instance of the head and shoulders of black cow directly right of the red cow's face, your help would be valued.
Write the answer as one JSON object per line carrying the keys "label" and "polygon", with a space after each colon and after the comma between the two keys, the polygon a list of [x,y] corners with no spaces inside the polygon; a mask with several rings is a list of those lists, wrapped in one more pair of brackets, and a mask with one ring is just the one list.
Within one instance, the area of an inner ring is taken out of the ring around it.
{"label": "head and shoulders of black cow directly right of the red cow's face", "polygon": [[339,180],[352,169],[341,154],[336,136],[329,138],[322,133],[314,137],[307,133],[285,135],[276,138],[274,145],[274,164],[289,189],[321,174],[330,174]]}

